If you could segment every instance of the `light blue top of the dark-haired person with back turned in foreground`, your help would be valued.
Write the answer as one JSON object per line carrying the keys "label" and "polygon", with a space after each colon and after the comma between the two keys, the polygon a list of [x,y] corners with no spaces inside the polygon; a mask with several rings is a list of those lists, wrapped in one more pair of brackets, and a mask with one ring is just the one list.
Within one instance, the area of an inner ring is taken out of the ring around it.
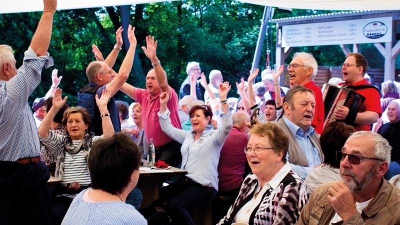
{"label": "light blue top of the dark-haired person with back turned in foreground", "polygon": [[83,199],[83,194],[86,194],[87,190],[89,189],[80,191],[73,199],[62,220],[62,225],[147,225],[147,220],[132,205],[125,202],[86,201]]}

